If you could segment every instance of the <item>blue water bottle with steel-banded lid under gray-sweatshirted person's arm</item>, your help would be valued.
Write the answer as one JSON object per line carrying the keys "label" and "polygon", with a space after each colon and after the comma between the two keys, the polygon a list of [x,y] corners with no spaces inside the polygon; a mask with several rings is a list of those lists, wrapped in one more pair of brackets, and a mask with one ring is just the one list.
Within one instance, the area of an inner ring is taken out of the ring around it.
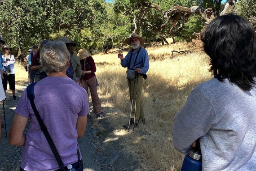
{"label": "blue water bottle with steel-banded lid under gray-sweatshirted person's arm", "polygon": [[191,148],[185,156],[181,171],[202,171],[202,154],[199,141],[196,142],[195,148]]}

